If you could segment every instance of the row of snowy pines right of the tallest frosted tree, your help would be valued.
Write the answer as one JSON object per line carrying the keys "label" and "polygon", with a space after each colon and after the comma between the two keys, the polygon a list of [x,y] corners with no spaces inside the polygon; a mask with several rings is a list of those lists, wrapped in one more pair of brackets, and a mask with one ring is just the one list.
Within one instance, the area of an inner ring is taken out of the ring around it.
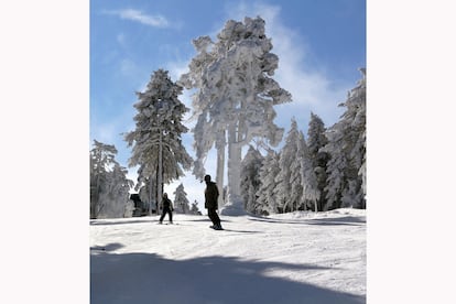
{"label": "row of snowy pines right of the tallest frosted tree", "polygon": [[311,113],[307,138],[293,118],[283,148],[263,156],[250,145],[241,165],[246,210],[269,215],[294,210],[366,208],[366,69],[340,104],[339,121],[326,129]]}

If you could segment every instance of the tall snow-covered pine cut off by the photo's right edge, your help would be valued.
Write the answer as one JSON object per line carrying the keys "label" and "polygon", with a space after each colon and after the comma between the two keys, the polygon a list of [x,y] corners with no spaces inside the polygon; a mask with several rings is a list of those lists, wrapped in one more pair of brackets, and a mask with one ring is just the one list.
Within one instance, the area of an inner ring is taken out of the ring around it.
{"label": "tall snow-covered pine cut off by the photo's right edge", "polygon": [[346,107],[346,111],[327,131],[328,143],[322,150],[330,154],[325,209],[366,208],[362,184],[366,169],[366,69],[360,72],[362,78],[340,105]]}

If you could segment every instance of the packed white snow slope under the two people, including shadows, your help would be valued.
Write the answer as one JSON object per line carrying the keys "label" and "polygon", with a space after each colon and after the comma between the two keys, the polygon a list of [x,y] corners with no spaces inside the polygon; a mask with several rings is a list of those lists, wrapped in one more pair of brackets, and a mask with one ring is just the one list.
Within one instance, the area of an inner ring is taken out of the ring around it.
{"label": "packed white snow slope under the two people, including shadows", "polygon": [[366,303],[366,210],[90,221],[90,303]]}

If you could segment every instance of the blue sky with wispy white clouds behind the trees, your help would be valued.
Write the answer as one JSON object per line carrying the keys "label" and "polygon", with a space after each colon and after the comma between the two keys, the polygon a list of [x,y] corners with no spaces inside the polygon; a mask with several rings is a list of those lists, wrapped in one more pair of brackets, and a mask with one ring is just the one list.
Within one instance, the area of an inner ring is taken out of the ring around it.
{"label": "blue sky with wispy white clouds behind the trees", "polygon": [[[195,56],[192,40],[202,35],[216,40],[230,19],[260,15],[265,20],[272,53],[279,56],[274,79],[293,96],[292,102],[275,108],[275,123],[285,128],[285,134],[293,117],[306,132],[311,111],[326,127],[335,123],[343,111],[337,105],[356,86],[358,68],[366,67],[365,0],[93,0],[89,13],[90,144],[94,139],[115,144],[123,166],[130,149],[120,133],[134,129],[134,93],[142,91],[159,68],[177,80]],[[181,100],[191,108],[188,93]],[[192,121],[185,123],[192,128]],[[192,133],[184,134],[183,141],[193,156]],[[210,158],[209,153],[206,170],[215,175]],[[130,169],[131,178],[134,172]],[[191,172],[186,175],[178,183],[184,183],[191,202],[200,202],[200,185],[189,189],[195,178]]]}

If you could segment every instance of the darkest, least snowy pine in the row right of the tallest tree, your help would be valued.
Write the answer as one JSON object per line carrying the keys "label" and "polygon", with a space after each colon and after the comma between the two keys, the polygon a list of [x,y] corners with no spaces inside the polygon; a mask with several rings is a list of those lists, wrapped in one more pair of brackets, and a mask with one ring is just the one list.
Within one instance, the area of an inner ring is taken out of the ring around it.
{"label": "darkest, least snowy pine in the row right of the tallest tree", "polygon": [[319,192],[318,210],[323,210],[323,207],[326,205],[326,167],[329,161],[329,154],[322,151],[322,148],[328,143],[325,133],[326,128],[323,120],[317,115],[311,112],[311,121],[308,122],[307,130],[307,148],[312,170],[314,171],[317,189]]}

